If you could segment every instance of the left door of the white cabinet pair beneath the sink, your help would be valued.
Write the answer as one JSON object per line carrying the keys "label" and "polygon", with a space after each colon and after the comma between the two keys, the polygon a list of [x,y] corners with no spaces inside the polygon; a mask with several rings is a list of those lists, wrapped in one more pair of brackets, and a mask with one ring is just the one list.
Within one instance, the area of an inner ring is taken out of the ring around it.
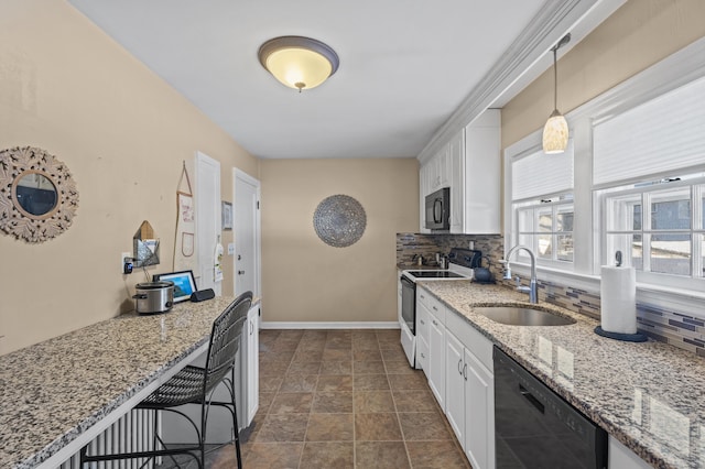
{"label": "left door of the white cabinet pair beneath the sink", "polygon": [[[465,440],[465,347],[449,331],[445,336],[445,416],[458,441]],[[475,467],[475,466],[473,466]]]}

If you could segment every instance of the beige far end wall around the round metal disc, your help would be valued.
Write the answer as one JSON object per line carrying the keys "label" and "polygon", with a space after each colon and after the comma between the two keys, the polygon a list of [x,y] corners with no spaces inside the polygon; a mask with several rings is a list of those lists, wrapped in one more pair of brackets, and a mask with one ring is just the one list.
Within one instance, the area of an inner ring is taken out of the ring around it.
{"label": "beige far end wall around the round metal disc", "polygon": [[[262,319],[397,320],[395,233],[419,231],[419,163],[393,160],[261,162]],[[348,248],[318,239],[313,214],[344,194],[367,229]]]}

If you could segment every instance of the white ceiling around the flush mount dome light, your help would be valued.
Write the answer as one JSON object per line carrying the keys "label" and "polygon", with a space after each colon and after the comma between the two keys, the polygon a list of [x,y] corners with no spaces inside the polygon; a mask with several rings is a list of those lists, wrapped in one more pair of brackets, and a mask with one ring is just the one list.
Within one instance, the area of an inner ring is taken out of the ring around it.
{"label": "white ceiling around the flush mount dome light", "polygon": [[[69,1],[264,159],[419,155],[520,33],[543,21],[541,10],[557,3]],[[339,69],[301,94],[284,87],[257,56],[280,35],[327,43]]]}

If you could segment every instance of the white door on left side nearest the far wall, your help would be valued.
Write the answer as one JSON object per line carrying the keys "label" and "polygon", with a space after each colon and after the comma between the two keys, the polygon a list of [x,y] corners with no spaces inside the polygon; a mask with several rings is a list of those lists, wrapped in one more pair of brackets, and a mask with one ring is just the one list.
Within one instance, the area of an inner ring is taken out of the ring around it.
{"label": "white door on left side nearest the far wall", "polygon": [[260,182],[234,170],[235,295],[260,296]]}

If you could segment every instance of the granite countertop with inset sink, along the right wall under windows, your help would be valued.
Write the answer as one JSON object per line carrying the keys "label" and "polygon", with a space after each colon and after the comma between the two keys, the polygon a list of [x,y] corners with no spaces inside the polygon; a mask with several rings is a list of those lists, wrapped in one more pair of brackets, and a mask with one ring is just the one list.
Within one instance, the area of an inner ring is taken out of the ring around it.
{"label": "granite countertop with inset sink, along the right wall under windows", "polygon": [[571,326],[495,323],[479,306],[529,305],[525,294],[469,281],[417,282],[611,436],[657,468],[705,467],[705,360],[668,343],[596,335],[592,318]]}

